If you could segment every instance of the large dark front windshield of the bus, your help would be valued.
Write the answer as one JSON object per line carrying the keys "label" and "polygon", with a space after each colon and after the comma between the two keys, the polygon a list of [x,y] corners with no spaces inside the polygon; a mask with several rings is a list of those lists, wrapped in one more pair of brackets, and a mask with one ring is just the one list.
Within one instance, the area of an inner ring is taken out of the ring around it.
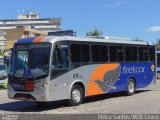
{"label": "large dark front windshield of the bus", "polygon": [[48,75],[50,51],[51,44],[17,45],[12,55],[10,74],[25,78]]}

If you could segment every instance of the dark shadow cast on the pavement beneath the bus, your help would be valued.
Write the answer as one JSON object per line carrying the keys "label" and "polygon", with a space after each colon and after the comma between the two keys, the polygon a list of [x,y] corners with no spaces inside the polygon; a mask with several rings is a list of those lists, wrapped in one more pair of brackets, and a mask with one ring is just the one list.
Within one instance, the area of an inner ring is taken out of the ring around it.
{"label": "dark shadow cast on the pavement beneath the bus", "polygon": [[[135,94],[148,92],[150,90],[138,90]],[[126,96],[124,92],[119,93],[112,93],[112,94],[104,94],[104,95],[97,95],[92,97],[87,97],[84,99],[83,104],[91,103],[95,101],[101,101],[105,99],[111,99],[116,97],[124,97]],[[52,110],[57,108],[65,108],[68,107],[66,104],[66,101],[55,101],[55,102],[49,102],[47,105],[37,105],[34,102],[29,101],[15,101],[10,103],[4,103],[0,104],[0,110],[2,111],[8,111],[8,112],[41,112],[46,110]]]}

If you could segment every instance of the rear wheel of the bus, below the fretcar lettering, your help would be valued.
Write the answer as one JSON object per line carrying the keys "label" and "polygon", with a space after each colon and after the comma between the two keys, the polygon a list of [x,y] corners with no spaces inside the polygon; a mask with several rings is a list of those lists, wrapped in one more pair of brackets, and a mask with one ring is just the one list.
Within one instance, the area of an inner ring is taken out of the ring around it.
{"label": "rear wheel of the bus, below the fretcar lettering", "polygon": [[133,78],[130,78],[128,81],[127,95],[133,95],[135,93],[135,81]]}

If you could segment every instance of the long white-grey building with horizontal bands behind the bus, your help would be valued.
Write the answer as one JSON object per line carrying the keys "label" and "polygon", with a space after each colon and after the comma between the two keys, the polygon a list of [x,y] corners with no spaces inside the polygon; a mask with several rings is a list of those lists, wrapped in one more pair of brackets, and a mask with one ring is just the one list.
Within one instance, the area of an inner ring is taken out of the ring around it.
{"label": "long white-grey building with horizontal bands behind the bus", "polygon": [[31,28],[35,30],[54,32],[60,31],[61,18],[40,18],[39,14],[18,14],[18,19],[0,20],[0,30],[14,28]]}

